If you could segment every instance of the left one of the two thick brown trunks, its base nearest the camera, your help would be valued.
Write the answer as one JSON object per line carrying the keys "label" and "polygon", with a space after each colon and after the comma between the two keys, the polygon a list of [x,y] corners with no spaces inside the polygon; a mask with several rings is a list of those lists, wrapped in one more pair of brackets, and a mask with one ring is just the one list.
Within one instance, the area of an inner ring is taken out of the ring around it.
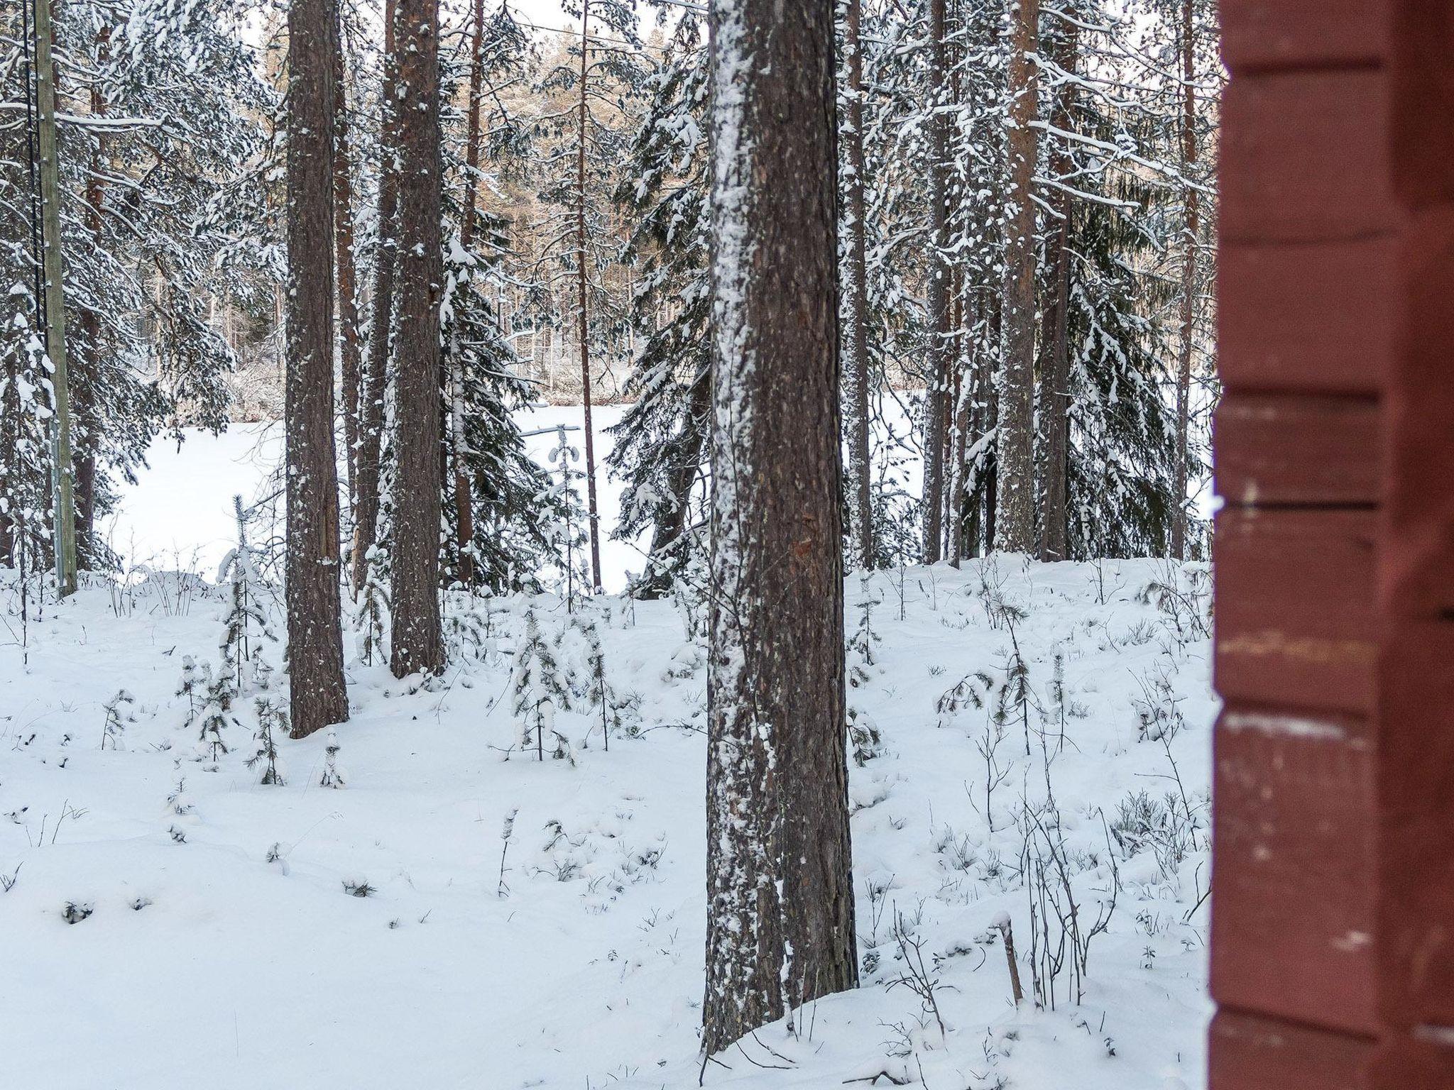
{"label": "left one of the two thick brown trunks, its base nearest the camera", "polygon": [[339,621],[333,449],[333,52],[330,0],[288,9],[288,673],[292,737],[349,718]]}

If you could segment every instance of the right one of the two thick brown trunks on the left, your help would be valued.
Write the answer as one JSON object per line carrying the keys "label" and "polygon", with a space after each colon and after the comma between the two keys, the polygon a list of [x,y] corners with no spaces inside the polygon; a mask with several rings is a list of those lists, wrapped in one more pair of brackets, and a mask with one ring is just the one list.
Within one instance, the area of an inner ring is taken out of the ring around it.
{"label": "right one of the two thick brown trunks on the left", "polygon": [[398,0],[398,340],[394,352],[394,552],[390,669],[443,667],[439,628],[443,294],[438,0]]}

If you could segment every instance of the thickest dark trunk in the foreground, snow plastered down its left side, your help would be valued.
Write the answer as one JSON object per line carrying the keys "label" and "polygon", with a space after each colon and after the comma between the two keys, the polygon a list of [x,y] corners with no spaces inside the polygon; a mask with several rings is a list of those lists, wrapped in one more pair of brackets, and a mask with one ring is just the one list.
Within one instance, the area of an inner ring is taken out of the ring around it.
{"label": "thickest dark trunk in the foreground, snow plastered down its left side", "polygon": [[708,1054],[856,984],[833,6],[721,0],[712,61]]}

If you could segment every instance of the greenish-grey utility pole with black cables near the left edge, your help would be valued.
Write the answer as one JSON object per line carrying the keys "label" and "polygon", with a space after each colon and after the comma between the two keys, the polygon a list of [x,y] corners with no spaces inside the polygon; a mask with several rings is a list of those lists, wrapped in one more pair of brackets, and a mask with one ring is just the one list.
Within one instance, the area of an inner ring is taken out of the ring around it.
{"label": "greenish-grey utility pole with black cables near the left edge", "polygon": [[65,381],[65,292],[61,282],[61,176],[55,141],[55,64],[51,60],[51,0],[35,1],[35,112],[41,151],[41,240],[45,272],[45,355],[51,359],[55,421],[55,586],[76,593],[76,501],[71,494],[71,395]]}

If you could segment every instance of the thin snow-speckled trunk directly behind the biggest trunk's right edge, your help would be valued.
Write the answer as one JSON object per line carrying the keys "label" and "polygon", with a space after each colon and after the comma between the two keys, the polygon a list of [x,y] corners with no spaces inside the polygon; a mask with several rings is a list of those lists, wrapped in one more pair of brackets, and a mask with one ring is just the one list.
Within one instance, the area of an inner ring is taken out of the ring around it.
{"label": "thin snow-speckled trunk directly behind the biggest trunk's right edge", "polygon": [[848,379],[853,413],[848,435],[852,533],[858,564],[874,567],[874,501],[868,446],[868,185],[864,163],[864,0],[848,0]]}

